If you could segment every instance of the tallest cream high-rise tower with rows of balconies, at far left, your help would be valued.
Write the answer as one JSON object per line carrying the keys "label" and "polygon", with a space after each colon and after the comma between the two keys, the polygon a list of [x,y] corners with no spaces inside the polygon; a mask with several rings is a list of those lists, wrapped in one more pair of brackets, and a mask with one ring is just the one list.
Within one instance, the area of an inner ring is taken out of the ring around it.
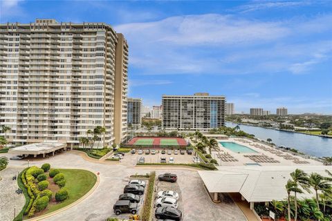
{"label": "tallest cream high-rise tower with rows of balconies, at far left", "polygon": [[[127,131],[128,46],[106,23],[0,25],[0,125],[15,144],[66,142],[104,126],[104,145]],[[1,134],[2,135],[2,134]]]}

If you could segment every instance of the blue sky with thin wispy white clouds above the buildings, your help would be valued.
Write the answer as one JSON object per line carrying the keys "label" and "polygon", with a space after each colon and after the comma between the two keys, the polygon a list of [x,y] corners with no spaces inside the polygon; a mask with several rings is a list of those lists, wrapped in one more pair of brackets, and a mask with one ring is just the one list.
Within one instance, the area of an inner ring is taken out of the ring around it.
{"label": "blue sky with thin wispy white clouds above the buildings", "polygon": [[225,95],[237,113],[332,114],[332,1],[0,1],[0,23],[109,23],[129,97]]}

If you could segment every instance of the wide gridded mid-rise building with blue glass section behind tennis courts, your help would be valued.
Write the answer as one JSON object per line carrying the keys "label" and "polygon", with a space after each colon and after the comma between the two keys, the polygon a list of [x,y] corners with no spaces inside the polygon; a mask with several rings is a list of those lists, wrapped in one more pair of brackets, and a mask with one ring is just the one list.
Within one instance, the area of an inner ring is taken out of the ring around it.
{"label": "wide gridded mid-rise building with blue glass section behind tennis courts", "polygon": [[208,131],[225,125],[225,97],[208,93],[163,95],[163,127]]}

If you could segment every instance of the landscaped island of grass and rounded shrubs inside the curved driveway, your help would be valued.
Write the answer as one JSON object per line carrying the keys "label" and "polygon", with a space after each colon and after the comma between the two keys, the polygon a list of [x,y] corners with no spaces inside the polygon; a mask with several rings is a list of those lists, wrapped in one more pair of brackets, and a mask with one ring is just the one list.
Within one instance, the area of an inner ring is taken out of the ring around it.
{"label": "landscaped island of grass and rounded shrubs inside the curved driveway", "polygon": [[97,177],[80,169],[50,169],[31,166],[19,174],[18,184],[24,191],[26,204],[15,220],[35,218],[75,202],[88,193]]}

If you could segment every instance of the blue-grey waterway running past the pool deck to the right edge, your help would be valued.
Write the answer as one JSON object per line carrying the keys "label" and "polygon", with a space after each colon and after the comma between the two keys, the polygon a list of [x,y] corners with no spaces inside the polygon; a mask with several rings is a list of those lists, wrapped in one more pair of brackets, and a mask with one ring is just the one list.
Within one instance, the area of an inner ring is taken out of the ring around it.
{"label": "blue-grey waterway running past the pool deck to the right edge", "polygon": [[[227,122],[226,126],[237,126],[237,124]],[[332,139],[305,135],[302,133],[293,133],[278,131],[259,126],[248,126],[239,124],[241,131],[255,135],[256,138],[266,140],[272,139],[277,146],[287,146],[295,148],[302,153],[316,157],[332,157]]]}

